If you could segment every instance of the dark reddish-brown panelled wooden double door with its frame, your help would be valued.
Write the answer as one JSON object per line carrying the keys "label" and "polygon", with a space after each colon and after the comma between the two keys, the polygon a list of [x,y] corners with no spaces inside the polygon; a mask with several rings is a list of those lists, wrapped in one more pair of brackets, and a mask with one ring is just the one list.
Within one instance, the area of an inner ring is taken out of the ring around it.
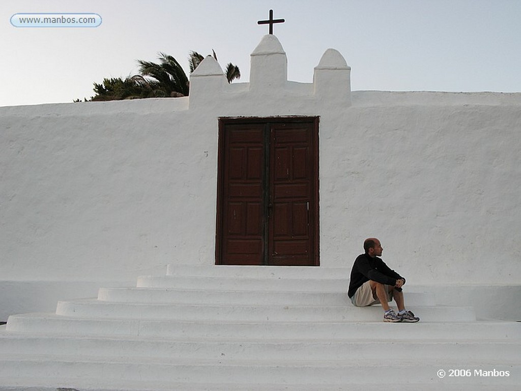
{"label": "dark reddish-brown panelled wooden double door with its frame", "polygon": [[216,263],[318,266],[318,117],[219,121]]}

